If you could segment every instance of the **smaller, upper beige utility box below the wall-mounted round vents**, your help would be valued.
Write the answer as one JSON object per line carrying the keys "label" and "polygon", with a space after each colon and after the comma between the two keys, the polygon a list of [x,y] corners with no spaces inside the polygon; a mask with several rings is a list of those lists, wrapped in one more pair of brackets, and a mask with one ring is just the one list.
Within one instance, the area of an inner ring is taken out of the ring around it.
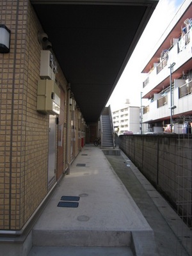
{"label": "smaller, upper beige utility box below the wall-mounted round vents", "polygon": [[40,58],[40,77],[42,79],[55,80],[56,61],[50,51],[41,51]]}

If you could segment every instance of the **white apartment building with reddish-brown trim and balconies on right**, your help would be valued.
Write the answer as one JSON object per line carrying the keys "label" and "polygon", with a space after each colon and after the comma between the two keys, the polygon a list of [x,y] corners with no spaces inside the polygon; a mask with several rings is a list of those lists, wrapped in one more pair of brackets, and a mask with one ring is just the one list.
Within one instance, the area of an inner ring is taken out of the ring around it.
{"label": "white apartment building with reddish-brown trim and balconies on right", "polygon": [[[142,122],[148,131],[191,133],[192,4],[184,1],[142,72]],[[144,102],[144,100],[143,100]]]}

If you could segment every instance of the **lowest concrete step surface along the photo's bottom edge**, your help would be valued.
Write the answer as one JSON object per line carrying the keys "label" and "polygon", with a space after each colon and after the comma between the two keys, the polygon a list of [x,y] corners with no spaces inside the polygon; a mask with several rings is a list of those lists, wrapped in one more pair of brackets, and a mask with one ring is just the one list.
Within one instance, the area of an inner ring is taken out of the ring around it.
{"label": "lowest concrete step surface along the photo's bottom edge", "polygon": [[129,247],[34,246],[28,256],[133,256]]}

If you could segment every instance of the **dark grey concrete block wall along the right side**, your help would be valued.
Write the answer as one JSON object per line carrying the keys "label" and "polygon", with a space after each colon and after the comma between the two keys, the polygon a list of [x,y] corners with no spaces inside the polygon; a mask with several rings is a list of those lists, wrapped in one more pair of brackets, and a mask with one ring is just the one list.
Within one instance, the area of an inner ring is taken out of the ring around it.
{"label": "dark grey concrete block wall along the right side", "polygon": [[120,148],[191,223],[192,135],[123,135]]}

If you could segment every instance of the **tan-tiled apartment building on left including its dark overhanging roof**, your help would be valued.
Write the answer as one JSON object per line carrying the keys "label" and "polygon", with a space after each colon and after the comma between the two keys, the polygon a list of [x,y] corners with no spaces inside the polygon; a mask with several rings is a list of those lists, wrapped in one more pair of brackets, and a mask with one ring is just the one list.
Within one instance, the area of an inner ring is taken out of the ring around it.
{"label": "tan-tiled apartment building on left including its dark overhanging roof", "polygon": [[24,252],[6,255],[27,254],[38,214],[98,136],[158,0],[71,2],[0,1],[0,247]]}

